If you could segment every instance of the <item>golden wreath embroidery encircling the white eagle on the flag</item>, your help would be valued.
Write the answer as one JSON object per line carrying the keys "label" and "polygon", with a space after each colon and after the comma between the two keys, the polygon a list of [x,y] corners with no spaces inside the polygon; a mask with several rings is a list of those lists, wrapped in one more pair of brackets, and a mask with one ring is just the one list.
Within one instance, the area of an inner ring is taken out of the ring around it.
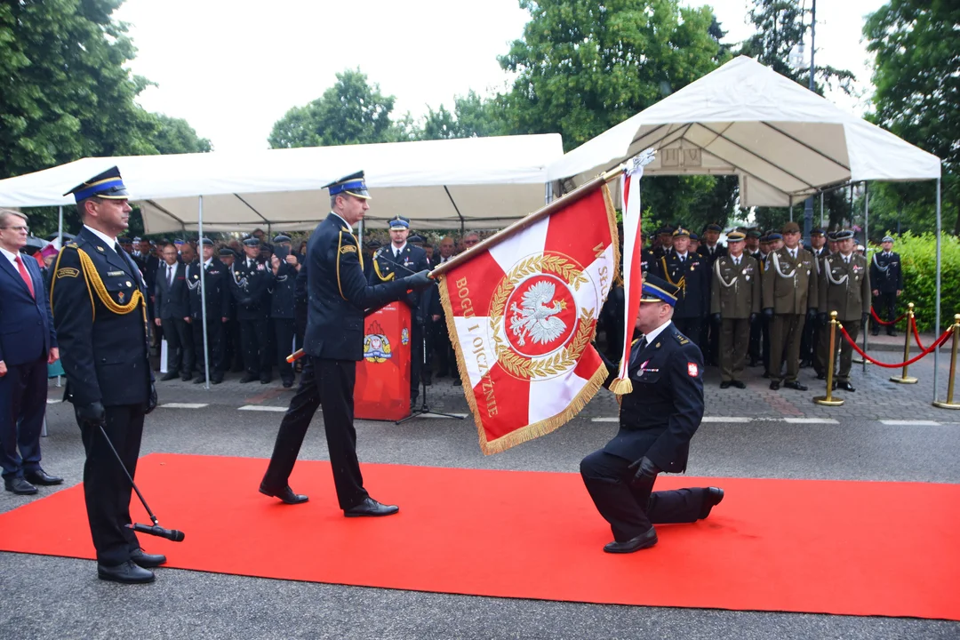
{"label": "golden wreath embroidery encircling the white eagle on the flag", "polygon": [[559,255],[535,255],[516,264],[510,273],[500,280],[493,292],[490,307],[490,325],[496,357],[500,365],[518,378],[545,378],[563,373],[574,367],[593,334],[594,312],[581,308],[576,334],[569,344],[548,358],[534,360],[517,354],[501,335],[501,319],[507,299],[517,284],[525,277],[536,273],[554,273],[563,278],[574,291],[588,282],[587,276],[575,264]]}

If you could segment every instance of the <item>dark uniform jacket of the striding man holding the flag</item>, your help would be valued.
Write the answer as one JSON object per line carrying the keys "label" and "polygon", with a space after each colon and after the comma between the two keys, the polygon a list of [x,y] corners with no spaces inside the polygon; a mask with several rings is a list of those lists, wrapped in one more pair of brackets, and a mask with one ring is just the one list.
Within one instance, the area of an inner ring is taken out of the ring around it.
{"label": "dark uniform jacket of the striding man holding the flag", "polygon": [[360,360],[364,311],[406,296],[406,282],[395,277],[369,285],[356,237],[332,212],[311,234],[304,268],[308,311],[303,350],[317,358]]}

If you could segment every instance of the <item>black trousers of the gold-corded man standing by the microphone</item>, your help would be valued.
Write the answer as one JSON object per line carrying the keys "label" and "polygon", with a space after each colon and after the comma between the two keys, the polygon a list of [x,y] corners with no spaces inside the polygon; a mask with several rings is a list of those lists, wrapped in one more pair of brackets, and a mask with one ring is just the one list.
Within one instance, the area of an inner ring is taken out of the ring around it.
{"label": "black trousers of the gold-corded man standing by the microphone", "polygon": [[[142,404],[106,408],[104,430],[132,477],[135,477],[140,455],[144,409]],[[91,427],[79,418],[77,423],[86,450],[84,500],[97,561],[108,566],[122,564],[130,559],[132,551],[140,548],[133,530],[125,526],[132,522],[130,498],[133,487],[100,428]]]}

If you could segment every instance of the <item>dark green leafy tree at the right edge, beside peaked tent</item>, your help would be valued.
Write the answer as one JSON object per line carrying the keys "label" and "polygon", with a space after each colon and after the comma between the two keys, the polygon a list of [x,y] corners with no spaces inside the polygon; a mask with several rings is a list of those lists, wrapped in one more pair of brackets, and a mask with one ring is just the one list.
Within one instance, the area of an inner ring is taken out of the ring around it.
{"label": "dark green leafy tree at the right edge, beside peaked tent", "polygon": [[[868,17],[863,34],[876,57],[871,119],[943,160],[944,208],[960,234],[960,5],[890,0]],[[886,223],[877,229],[900,222],[931,230],[934,198],[928,184],[880,184],[871,216],[876,210]]]}

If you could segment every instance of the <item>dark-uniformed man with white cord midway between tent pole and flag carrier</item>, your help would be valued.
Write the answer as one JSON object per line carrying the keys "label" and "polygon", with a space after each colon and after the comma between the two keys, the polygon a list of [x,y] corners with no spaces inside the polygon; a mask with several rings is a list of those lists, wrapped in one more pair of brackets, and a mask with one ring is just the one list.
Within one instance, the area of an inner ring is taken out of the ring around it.
{"label": "dark-uniformed man with white cord midway between tent pole and flag carrier", "polygon": [[[249,243],[246,240],[244,243]],[[270,324],[270,287],[274,273],[270,265],[246,255],[234,261],[230,267],[230,292],[236,301],[237,322],[240,324],[240,340],[243,343],[243,364],[247,374],[241,382],[260,379],[271,380],[274,359],[268,345]]]}

